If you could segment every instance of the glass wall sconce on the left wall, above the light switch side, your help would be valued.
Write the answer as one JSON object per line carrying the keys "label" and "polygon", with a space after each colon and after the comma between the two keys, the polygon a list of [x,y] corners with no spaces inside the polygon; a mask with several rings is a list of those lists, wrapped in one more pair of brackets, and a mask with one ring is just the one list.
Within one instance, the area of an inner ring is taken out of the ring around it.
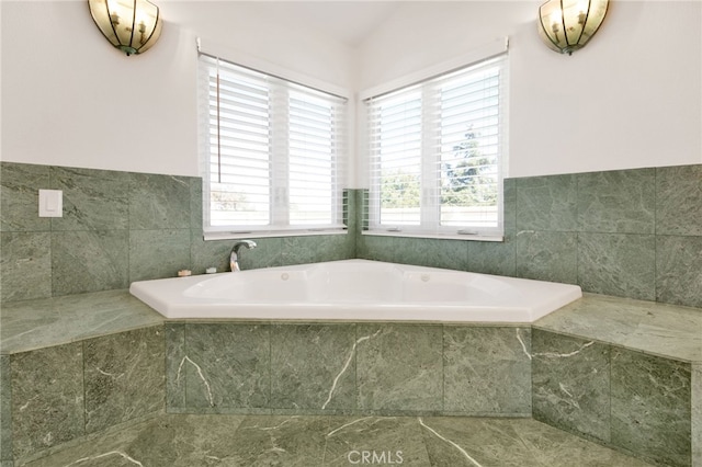
{"label": "glass wall sconce on the left wall, above the light switch side", "polygon": [[88,0],[90,14],[112,45],[127,54],[141,54],[161,34],[158,7],[147,0]]}

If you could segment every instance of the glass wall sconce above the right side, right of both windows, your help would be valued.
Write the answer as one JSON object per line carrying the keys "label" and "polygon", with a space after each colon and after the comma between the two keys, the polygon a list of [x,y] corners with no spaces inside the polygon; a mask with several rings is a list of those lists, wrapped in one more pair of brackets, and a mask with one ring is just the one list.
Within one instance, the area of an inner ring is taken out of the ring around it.
{"label": "glass wall sconce above the right side, right of both windows", "polygon": [[539,8],[539,34],[546,45],[573,55],[602,24],[609,0],[548,0]]}

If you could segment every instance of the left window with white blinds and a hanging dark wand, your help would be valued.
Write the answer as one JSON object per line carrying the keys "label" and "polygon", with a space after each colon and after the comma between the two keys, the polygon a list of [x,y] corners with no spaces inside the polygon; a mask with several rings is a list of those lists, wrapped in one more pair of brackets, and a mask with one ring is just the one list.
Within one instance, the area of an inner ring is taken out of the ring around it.
{"label": "left window with white blinds and a hanging dark wand", "polygon": [[343,228],[346,100],[200,62],[205,238]]}

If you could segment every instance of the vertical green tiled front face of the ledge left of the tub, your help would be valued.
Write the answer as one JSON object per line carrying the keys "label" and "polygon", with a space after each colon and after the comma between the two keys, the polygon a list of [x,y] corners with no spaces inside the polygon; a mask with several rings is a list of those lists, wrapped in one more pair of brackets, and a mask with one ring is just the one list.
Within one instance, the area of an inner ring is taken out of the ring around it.
{"label": "vertical green tiled front face of the ledge left of the tub", "polygon": [[162,324],[2,355],[2,460],[162,412],[163,362]]}

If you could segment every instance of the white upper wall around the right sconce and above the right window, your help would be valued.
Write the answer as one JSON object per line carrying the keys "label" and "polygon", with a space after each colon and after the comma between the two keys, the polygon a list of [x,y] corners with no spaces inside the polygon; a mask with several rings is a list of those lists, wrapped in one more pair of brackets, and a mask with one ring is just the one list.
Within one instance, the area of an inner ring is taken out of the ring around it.
{"label": "white upper wall around the right sconce and above the right window", "polygon": [[615,1],[573,56],[539,1],[409,3],[360,49],[359,88],[510,37],[509,176],[702,162],[702,3]]}

